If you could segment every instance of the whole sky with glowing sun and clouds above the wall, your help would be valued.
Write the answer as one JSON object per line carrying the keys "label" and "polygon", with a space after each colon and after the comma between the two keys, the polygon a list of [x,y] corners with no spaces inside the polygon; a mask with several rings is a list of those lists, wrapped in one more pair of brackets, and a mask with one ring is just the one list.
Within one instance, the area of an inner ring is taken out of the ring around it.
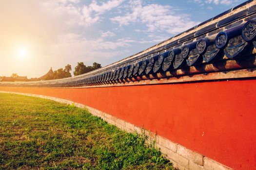
{"label": "whole sky with glowing sun and clouds above the wall", "polygon": [[0,76],[106,66],[245,0],[0,0]]}

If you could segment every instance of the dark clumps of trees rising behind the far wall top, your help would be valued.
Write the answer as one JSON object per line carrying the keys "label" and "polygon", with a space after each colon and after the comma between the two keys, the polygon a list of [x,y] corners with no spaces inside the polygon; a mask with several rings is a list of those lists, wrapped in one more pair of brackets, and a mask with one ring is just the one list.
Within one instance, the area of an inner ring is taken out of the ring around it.
{"label": "dark clumps of trees rising behind the far wall top", "polygon": [[[83,62],[78,62],[78,65],[75,67],[74,75],[80,75],[84,74],[90,71],[93,71],[95,69],[101,68],[101,64],[98,64],[96,62],[93,63],[93,66],[85,66]],[[66,77],[71,77],[70,71],[72,70],[71,65],[67,65],[64,68],[59,68],[55,71],[53,71],[53,74],[47,74],[44,77],[44,80],[53,80],[53,79],[62,79]]]}

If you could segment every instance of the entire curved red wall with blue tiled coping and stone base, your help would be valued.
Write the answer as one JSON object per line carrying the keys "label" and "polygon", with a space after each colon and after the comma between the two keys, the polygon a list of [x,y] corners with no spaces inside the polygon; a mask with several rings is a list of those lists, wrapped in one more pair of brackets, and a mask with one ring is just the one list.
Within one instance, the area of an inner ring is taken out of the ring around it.
{"label": "entire curved red wall with blue tiled coping and stone base", "polygon": [[248,0],[109,66],[0,82],[0,91],[65,99],[115,117],[114,124],[144,127],[162,137],[161,151],[182,170],[254,170],[255,85],[256,0]]}

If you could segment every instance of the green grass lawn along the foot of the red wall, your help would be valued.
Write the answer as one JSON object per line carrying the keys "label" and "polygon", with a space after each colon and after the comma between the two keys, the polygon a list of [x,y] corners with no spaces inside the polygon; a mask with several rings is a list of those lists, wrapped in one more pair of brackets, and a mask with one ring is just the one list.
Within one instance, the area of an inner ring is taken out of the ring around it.
{"label": "green grass lawn along the foot of the red wall", "polygon": [[146,140],[85,109],[0,93],[0,169],[174,170]]}

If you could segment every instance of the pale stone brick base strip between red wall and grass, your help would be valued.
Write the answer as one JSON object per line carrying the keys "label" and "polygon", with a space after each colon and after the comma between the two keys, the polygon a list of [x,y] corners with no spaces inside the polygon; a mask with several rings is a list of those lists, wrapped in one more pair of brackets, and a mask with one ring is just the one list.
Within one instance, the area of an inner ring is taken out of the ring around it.
{"label": "pale stone brick base strip between red wall and grass", "polygon": [[[74,104],[79,108],[86,108],[88,111],[97,117],[107,121],[109,124],[115,125],[123,131],[132,133],[140,133],[142,129],[138,126],[135,126],[127,121],[118,119],[112,115],[104,113],[98,109],[86,106],[81,103],[72,102],[65,99],[59,99],[55,97],[49,97],[44,95],[36,95],[29,93],[18,93],[18,92],[9,92],[9,91],[0,91],[0,93],[10,93],[10,94],[19,94],[25,96],[39,97],[43,99],[48,99],[55,102],[61,102],[65,104]],[[217,161],[210,159],[200,153],[196,153],[182,145],[179,145],[175,142],[170,141],[162,136],[156,135],[152,132],[145,132],[150,140],[156,140],[156,147],[160,149],[161,153],[165,155],[174,165],[174,167],[179,168],[179,170],[233,170],[223,164],[218,163]]]}

